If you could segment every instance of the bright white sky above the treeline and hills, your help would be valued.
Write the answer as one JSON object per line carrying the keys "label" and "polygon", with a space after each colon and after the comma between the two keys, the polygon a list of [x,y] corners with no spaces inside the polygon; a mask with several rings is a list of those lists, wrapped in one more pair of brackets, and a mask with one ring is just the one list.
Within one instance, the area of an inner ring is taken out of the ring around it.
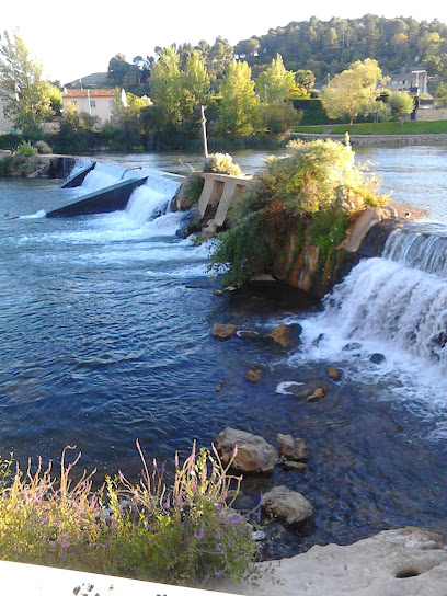
{"label": "bright white sky above the treeline and hills", "polygon": [[[146,0],[142,3],[59,2],[53,0],[2,0],[0,32],[19,28],[31,57],[41,62],[44,78],[62,84],[93,72],[105,72],[108,60],[124,54],[153,54],[156,46],[200,39],[214,43],[218,35],[232,45],[290,21],[322,21],[332,16],[355,19],[366,13],[379,16],[438,19],[447,23],[447,3],[421,0],[376,0],[365,5],[356,0]],[[435,5],[438,4],[437,7]]]}

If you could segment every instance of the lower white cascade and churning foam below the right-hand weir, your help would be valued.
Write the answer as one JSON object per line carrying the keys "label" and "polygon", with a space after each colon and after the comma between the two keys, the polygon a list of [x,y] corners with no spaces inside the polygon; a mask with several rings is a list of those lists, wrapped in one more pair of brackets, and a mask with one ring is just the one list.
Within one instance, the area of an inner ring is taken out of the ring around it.
{"label": "lower white cascade and churning foam below the right-hand weir", "polygon": [[[447,437],[446,279],[365,260],[335,286],[323,312],[299,322],[303,344],[289,365],[335,364],[371,398],[402,400],[434,422],[433,438]],[[380,364],[370,360],[377,353]]]}

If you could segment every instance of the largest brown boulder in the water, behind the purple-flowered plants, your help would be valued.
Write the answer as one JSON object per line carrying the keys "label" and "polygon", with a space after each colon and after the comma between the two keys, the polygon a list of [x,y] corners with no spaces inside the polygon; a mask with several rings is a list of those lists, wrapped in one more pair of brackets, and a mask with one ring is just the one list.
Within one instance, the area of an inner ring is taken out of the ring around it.
{"label": "largest brown boulder in the water, behind the purple-flowered plants", "polygon": [[259,435],[227,427],[217,436],[217,448],[224,465],[230,461],[236,447],[232,467],[241,472],[270,473],[279,459],[275,447]]}

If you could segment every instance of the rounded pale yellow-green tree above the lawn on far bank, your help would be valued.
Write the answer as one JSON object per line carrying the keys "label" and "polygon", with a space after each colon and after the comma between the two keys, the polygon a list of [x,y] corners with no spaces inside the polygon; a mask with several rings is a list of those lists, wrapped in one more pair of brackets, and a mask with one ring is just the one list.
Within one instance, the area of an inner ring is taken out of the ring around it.
{"label": "rounded pale yellow-green tree above the lawn on far bank", "polygon": [[376,112],[376,100],[380,95],[378,85],[385,82],[377,60],[357,60],[323,88],[323,107],[332,119],[347,116],[351,127],[359,114]]}

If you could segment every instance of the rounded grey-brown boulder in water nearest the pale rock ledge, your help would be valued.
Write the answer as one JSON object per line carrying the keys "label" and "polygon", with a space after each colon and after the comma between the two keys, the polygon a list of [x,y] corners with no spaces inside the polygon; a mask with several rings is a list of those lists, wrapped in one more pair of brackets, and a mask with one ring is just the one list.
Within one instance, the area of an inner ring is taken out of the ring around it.
{"label": "rounded grey-brown boulder in water nearest the pale rock ledge", "polygon": [[290,491],[287,486],[275,486],[265,493],[262,507],[266,514],[288,526],[302,524],[313,515],[311,503],[301,493]]}

